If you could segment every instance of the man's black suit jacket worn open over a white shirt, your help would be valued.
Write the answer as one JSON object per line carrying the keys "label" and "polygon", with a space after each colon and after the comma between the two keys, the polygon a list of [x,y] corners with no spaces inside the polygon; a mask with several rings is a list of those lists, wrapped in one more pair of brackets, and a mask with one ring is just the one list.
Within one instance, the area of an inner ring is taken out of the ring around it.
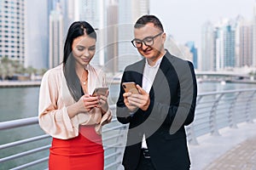
{"label": "man's black suit jacket worn open over a white shirt", "polygon": [[[136,82],[142,87],[145,59],[125,68],[121,82]],[[124,89],[120,86],[117,118],[130,123],[123,158],[127,170],[137,167],[143,134],[154,167],[159,170],[189,169],[189,151],[184,126],[193,122],[197,86],[191,62],[178,59],[166,51],[150,89],[147,111],[135,113],[124,103]]]}

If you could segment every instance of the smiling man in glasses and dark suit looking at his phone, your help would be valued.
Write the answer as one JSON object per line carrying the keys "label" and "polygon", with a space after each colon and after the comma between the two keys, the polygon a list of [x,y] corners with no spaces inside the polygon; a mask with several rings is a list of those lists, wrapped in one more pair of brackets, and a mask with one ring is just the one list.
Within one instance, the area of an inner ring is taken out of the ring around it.
{"label": "smiling man in glasses and dark suit looking at his phone", "polygon": [[154,15],[143,15],[131,41],[143,59],[125,68],[122,82],[136,82],[139,94],[120,87],[117,118],[130,123],[125,170],[187,170],[184,126],[194,120],[197,86],[191,62],[165,48],[166,33]]}

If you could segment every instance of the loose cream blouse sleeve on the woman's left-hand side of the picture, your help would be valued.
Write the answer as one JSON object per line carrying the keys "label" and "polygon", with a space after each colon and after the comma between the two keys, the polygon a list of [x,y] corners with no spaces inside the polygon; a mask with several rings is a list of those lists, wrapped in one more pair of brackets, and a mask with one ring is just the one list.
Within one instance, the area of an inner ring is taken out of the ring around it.
{"label": "loose cream blouse sleeve on the woman's left-hand side of the picture", "polygon": [[61,69],[49,70],[42,78],[39,91],[38,121],[40,127],[57,139],[71,139],[79,134],[73,126],[67,107],[61,102]]}

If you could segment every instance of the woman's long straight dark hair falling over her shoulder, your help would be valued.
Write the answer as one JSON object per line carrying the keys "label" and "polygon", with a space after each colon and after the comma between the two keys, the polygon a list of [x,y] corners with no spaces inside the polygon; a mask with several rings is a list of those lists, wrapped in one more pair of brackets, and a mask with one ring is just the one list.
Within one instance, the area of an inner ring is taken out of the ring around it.
{"label": "woman's long straight dark hair falling over her shoulder", "polygon": [[96,31],[86,21],[76,21],[69,27],[64,45],[63,72],[66,78],[67,88],[75,101],[82,96],[79,77],[75,71],[75,60],[73,59],[72,44],[76,37],[84,36],[84,32],[96,39]]}

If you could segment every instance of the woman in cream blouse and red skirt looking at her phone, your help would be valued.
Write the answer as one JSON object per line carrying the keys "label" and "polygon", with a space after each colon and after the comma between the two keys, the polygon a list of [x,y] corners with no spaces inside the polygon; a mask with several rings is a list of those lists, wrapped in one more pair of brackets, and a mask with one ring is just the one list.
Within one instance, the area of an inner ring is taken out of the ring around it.
{"label": "woman in cream blouse and red skirt looking at her phone", "polygon": [[39,125],[49,133],[49,169],[102,170],[101,127],[111,121],[102,71],[90,65],[96,53],[96,31],[85,21],[73,22],[67,32],[61,65],[44,74],[39,94]]}

